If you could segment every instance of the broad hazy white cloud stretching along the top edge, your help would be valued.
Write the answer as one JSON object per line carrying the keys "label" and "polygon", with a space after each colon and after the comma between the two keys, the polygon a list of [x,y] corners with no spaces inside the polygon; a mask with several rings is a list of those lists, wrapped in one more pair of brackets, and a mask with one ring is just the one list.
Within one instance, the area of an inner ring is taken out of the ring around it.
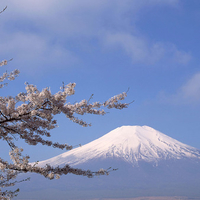
{"label": "broad hazy white cloud stretching along the top edge", "polygon": [[[104,28],[124,28],[143,8],[178,4],[178,0],[17,0],[9,2],[11,18],[30,20],[59,34],[97,35]],[[127,15],[128,14],[128,15]],[[108,26],[106,27],[106,23]]]}

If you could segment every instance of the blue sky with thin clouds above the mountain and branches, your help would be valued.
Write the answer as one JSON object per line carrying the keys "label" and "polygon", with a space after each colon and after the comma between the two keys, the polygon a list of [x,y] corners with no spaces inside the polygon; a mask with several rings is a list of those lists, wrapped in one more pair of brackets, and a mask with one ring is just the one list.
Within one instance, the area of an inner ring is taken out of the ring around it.
{"label": "blue sky with thin clouds above the mountain and branches", "polygon": [[[57,92],[64,81],[77,84],[69,102],[91,94],[104,101],[128,88],[126,102],[135,101],[105,116],[81,116],[89,128],[59,116],[54,141],[85,144],[122,125],[148,125],[200,149],[198,0],[2,0],[6,5],[0,55],[13,61],[1,73],[21,73],[1,96],[24,91],[25,81]],[[31,161],[63,152],[18,144]]]}

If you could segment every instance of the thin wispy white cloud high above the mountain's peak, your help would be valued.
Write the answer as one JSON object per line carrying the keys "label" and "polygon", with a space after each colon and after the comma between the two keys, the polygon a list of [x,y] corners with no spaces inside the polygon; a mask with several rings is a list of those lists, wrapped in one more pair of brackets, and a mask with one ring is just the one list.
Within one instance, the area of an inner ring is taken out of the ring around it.
{"label": "thin wispy white cloud high above the mountain's peak", "polygon": [[132,58],[133,62],[155,64],[159,61],[187,64],[191,55],[180,51],[173,44],[150,43],[141,36],[128,33],[107,33],[105,43],[109,46],[119,47]]}

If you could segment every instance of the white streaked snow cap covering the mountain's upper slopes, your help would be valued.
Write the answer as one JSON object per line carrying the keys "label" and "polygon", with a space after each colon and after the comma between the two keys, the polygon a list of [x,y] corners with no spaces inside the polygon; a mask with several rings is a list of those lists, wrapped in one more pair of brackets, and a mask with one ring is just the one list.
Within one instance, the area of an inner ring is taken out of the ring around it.
{"label": "white streaked snow cap covering the mountain's upper slopes", "polygon": [[39,162],[39,166],[86,163],[92,159],[122,159],[132,165],[139,161],[200,159],[200,151],[148,126],[122,126],[84,146]]}

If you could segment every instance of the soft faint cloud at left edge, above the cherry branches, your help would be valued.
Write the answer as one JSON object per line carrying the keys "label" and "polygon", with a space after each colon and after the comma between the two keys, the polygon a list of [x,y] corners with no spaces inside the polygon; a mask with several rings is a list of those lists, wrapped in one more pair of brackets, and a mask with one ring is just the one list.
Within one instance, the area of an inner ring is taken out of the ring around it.
{"label": "soft faint cloud at left edge, above the cherry branches", "polygon": [[[4,35],[3,38],[4,40],[0,40],[1,57],[4,59],[14,57],[15,64],[29,73],[37,69],[41,72],[47,68],[50,70],[55,66],[59,69],[77,61],[77,58],[67,49],[58,44],[51,44],[47,38],[35,34],[15,33]],[[58,65],[59,62],[66,65]]]}

